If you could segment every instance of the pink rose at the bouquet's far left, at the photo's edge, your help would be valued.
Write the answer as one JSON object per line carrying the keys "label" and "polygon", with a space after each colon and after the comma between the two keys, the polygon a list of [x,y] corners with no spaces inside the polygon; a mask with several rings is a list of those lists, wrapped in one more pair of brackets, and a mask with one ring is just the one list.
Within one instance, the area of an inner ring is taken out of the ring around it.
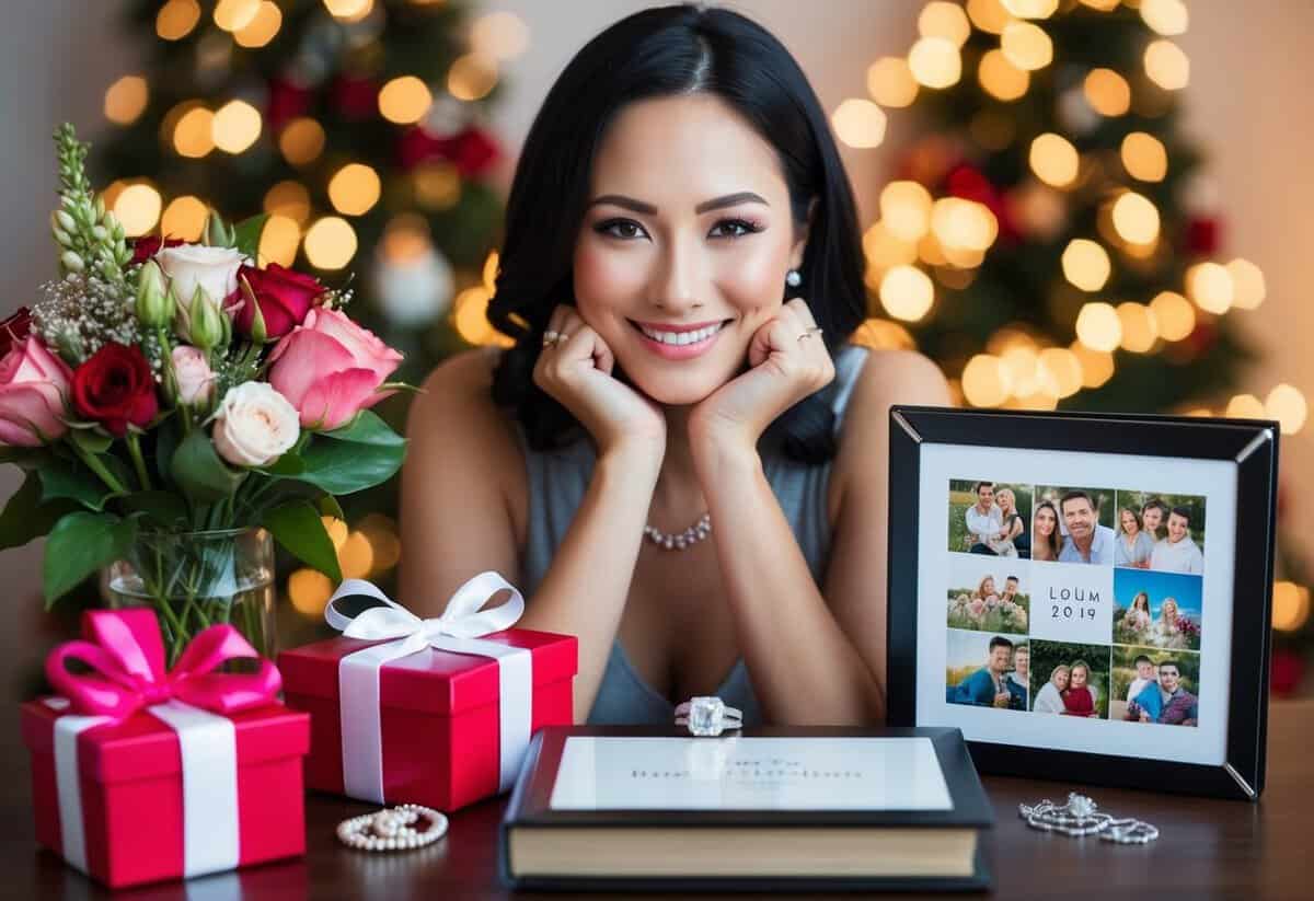
{"label": "pink rose at the bouquet's far left, at the photo's edge", "polygon": [[74,373],[39,338],[25,338],[0,360],[0,444],[39,447],[63,436]]}

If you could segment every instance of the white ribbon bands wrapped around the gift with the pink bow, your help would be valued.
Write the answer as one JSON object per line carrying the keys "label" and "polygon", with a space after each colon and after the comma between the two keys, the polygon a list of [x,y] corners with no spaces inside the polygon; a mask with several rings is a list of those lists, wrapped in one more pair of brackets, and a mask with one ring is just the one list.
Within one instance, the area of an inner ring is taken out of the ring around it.
{"label": "white ribbon bands wrapped around the gift with the pink bow", "polygon": [[[47,697],[57,711],[64,697]],[[181,701],[146,708],[177,733],[183,762],[183,877],[233,869],[238,866],[238,743],[233,720]],[[55,720],[55,791],[59,796],[59,834],[64,860],[87,869],[78,736],[92,726],[113,722],[108,716],[62,716]]]}

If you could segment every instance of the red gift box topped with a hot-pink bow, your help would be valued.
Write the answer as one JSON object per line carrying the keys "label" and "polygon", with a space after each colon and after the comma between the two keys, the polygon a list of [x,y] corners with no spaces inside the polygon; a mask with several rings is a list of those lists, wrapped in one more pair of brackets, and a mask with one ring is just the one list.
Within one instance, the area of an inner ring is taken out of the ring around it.
{"label": "red gift box topped with a hot-pink bow", "polygon": [[[305,854],[310,724],[275,700],[273,663],[214,625],[166,671],[150,609],[83,630],[46,661],[62,696],[21,709],[37,839],[112,888]],[[255,666],[225,671],[238,659]]]}

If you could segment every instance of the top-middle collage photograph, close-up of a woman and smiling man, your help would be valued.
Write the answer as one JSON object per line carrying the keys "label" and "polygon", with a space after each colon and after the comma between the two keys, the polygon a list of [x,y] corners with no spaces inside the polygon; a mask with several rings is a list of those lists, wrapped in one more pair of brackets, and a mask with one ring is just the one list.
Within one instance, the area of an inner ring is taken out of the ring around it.
{"label": "top-middle collage photograph, close-up of a woman and smiling man", "polygon": [[1037,486],[1031,560],[1112,566],[1112,489]]}

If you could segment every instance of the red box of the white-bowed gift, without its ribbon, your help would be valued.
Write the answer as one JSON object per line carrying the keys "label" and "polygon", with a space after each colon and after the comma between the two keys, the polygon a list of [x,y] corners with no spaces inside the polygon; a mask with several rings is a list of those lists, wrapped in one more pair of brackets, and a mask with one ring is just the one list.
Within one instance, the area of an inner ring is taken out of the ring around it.
{"label": "red box of the white-bowed gift, without its ribbon", "polygon": [[[573,721],[574,636],[506,629],[481,641],[532,655],[530,732]],[[343,657],[380,642],[330,638],[279,655],[286,704],[310,713],[306,785],[344,795]],[[499,789],[498,659],[424,648],[378,672],[384,799],[456,810]]]}

